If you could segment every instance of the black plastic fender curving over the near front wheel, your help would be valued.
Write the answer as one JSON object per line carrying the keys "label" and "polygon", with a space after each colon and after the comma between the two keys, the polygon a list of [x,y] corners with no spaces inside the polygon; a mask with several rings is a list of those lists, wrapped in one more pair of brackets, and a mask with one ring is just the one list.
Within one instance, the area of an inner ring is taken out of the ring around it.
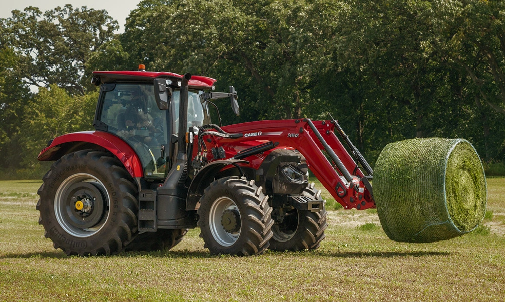
{"label": "black plastic fender curving over the near front wheel", "polygon": [[203,190],[214,181],[214,176],[218,174],[225,166],[236,163],[249,162],[241,159],[224,159],[216,160],[205,165],[200,172],[193,178],[189,185],[188,196],[186,198],[186,211],[195,210],[200,197],[203,195]]}

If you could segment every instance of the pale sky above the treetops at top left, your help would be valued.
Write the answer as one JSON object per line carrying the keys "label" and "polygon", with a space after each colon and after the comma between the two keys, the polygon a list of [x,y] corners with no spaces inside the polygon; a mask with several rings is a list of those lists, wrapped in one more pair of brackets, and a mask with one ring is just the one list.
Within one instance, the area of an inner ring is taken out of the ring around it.
{"label": "pale sky above the treetops at top left", "polygon": [[120,29],[119,33],[124,31],[126,17],[130,11],[137,8],[141,0],[121,0],[121,1],[106,1],[106,0],[0,0],[0,18],[12,16],[11,11],[18,9],[23,10],[28,6],[40,8],[42,12],[53,9],[57,6],[65,6],[71,4],[74,8],[87,6],[93,9],[105,9],[109,15],[118,21]]}

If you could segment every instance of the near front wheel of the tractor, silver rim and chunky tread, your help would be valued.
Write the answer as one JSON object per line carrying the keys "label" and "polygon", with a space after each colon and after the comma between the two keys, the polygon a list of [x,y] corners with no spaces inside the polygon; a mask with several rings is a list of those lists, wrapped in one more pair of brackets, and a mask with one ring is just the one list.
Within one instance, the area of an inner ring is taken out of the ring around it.
{"label": "near front wheel of the tractor, silver rim and chunky tread", "polygon": [[256,255],[268,248],[273,233],[271,207],[261,187],[245,177],[224,177],[200,198],[200,237],[212,254]]}

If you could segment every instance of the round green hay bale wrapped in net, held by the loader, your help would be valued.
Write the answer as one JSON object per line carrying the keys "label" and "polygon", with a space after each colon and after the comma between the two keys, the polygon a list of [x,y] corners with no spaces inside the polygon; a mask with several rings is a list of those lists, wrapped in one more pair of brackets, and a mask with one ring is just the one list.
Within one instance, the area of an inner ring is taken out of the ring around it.
{"label": "round green hay bale wrapped in net, held by the loader", "polygon": [[468,233],[487,202],[484,169],[463,139],[388,144],[377,159],[374,197],[384,232],[399,242],[427,243]]}

